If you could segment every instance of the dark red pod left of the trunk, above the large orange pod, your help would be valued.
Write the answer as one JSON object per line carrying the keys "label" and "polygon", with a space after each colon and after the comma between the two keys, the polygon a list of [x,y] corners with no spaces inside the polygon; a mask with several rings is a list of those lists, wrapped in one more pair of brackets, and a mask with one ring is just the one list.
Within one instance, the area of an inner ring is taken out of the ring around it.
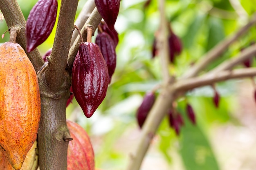
{"label": "dark red pod left of the trunk, above the large orange pod", "polygon": [[52,32],[58,9],[57,0],[38,0],[27,18],[27,52],[42,44]]}

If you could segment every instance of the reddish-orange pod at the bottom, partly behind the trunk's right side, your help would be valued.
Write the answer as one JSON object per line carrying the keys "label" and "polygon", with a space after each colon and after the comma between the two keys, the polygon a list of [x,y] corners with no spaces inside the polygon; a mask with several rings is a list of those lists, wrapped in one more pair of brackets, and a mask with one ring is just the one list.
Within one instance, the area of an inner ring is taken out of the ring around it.
{"label": "reddish-orange pod at the bottom, partly behind the trunk's right side", "polygon": [[67,170],[94,170],[94,152],[87,132],[69,120],[67,127],[73,138],[67,148]]}

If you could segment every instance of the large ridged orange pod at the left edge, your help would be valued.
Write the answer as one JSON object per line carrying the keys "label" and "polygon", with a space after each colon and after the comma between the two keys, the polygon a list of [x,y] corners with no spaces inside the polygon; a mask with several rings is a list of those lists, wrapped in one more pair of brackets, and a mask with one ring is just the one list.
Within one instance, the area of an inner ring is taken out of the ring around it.
{"label": "large ridged orange pod at the left edge", "polygon": [[36,72],[19,44],[0,46],[0,148],[19,170],[36,140],[40,92]]}

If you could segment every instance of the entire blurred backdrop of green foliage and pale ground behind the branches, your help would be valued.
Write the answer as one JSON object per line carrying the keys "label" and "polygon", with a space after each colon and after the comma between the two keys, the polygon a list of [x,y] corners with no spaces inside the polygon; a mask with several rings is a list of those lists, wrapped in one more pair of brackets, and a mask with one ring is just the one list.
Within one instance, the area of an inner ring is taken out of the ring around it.
{"label": "entire blurred backdrop of green foliage and pale ground behind the branches", "polygon": [[[36,2],[18,0],[25,19]],[[85,2],[79,1],[77,15]],[[67,119],[76,121],[90,135],[96,167],[103,170],[126,168],[130,151],[141,133],[136,110],[144,94],[162,81],[159,57],[152,58],[151,53],[159,28],[158,4],[152,0],[145,7],[145,3],[145,0],[121,0],[115,24],[119,33],[117,67],[103,103],[90,119],[83,115],[75,99],[67,107]],[[166,18],[183,45],[182,53],[170,65],[171,73],[182,75],[209,49],[246,24],[254,12],[255,0],[166,0]],[[1,17],[1,34],[7,29]],[[55,29],[56,24],[49,38],[38,47],[42,55],[52,48]],[[8,40],[6,33],[0,42]],[[207,70],[255,41],[256,26],[253,26]],[[256,66],[255,58],[252,65]],[[256,102],[252,81],[230,80],[216,84],[216,89],[221,97],[219,108],[213,104],[211,86],[194,89],[186,98],[176,101],[185,126],[177,136],[166,117],[141,170],[255,170]],[[186,101],[193,106],[196,125],[186,117]]]}

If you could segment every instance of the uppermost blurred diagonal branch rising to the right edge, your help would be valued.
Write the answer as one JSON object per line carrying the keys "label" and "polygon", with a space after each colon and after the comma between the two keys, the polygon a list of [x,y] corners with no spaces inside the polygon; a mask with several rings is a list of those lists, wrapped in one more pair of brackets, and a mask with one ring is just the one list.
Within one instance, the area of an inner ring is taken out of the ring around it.
{"label": "uppermost blurred diagonal branch rising to the right edge", "polygon": [[200,57],[200,60],[186,71],[182,76],[183,79],[194,77],[200,73],[205,67],[207,67],[213,60],[215,60],[221,53],[223,53],[230,44],[235,42],[243,33],[248,31],[248,29],[256,23],[256,13],[252,16],[251,20],[243,26],[234,35],[229,36],[225,40],[217,44],[213,49],[211,49],[204,56]]}

